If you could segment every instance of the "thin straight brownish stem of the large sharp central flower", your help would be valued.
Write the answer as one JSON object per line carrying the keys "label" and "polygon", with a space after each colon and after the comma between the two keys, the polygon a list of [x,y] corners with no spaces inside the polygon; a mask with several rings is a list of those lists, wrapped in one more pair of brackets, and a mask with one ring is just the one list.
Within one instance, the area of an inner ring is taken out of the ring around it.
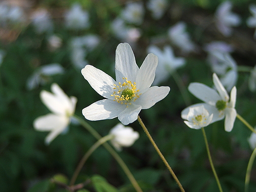
{"label": "thin straight brownish stem of the large sharp central flower", "polygon": [[140,117],[138,116],[138,122],[141,125],[141,127],[143,128],[143,130],[145,131],[146,135],[148,136],[149,140],[151,141],[152,145],[154,146],[154,148],[156,149],[158,155],[160,156],[161,160],[163,161],[163,163],[165,164],[165,166],[168,168],[169,172],[171,173],[172,177],[174,178],[174,180],[176,181],[176,183],[178,184],[180,190],[182,192],[185,192],[184,188],[182,187],[180,181],[178,180],[177,176],[175,175],[175,173],[173,172],[171,166],[168,164],[168,162],[165,160],[164,156],[162,155],[162,153],[160,152],[157,144],[155,143],[155,141],[153,140],[153,138],[151,137],[148,129],[146,128],[146,126],[144,125],[144,123],[142,122],[142,120],[140,119]]}

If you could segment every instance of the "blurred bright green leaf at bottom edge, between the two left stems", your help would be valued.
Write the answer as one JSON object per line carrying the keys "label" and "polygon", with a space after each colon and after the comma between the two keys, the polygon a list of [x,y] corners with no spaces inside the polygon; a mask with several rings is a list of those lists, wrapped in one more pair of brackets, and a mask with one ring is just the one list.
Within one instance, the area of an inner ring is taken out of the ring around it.
{"label": "blurred bright green leaf at bottom edge, between the two left stems", "polygon": [[96,192],[117,192],[117,189],[100,175],[94,175],[91,179]]}

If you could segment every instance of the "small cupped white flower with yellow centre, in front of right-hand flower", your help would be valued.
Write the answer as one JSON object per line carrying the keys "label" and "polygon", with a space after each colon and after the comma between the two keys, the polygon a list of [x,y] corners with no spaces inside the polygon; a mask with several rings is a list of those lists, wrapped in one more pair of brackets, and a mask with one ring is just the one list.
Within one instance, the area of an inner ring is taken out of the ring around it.
{"label": "small cupped white flower with yellow centre, in front of right-hand flower", "polygon": [[189,113],[187,116],[188,121],[184,121],[184,123],[189,128],[204,128],[208,126],[213,119],[213,114],[209,115],[209,112],[204,108],[203,105],[197,107],[190,107]]}

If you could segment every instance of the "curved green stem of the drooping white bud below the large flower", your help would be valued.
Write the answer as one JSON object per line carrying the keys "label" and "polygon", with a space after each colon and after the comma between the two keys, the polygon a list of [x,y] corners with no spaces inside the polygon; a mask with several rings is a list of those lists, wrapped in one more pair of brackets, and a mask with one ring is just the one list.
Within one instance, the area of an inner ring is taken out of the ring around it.
{"label": "curved green stem of the drooping white bud below the large flower", "polygon": [[101,137],[97,142],[88,150],[88,152],[85,153],[84,157],[80,160],[79,164],[76,167],[76,170],[71,178],[70,186],[75,184],[76,178],[78,174],[80,173],[81,169],[83,168],[85,161],[92,155],[92,153],[103,143],[107,142],[108,140],[112,139],[114,135],[106,135],[104,137]]}

